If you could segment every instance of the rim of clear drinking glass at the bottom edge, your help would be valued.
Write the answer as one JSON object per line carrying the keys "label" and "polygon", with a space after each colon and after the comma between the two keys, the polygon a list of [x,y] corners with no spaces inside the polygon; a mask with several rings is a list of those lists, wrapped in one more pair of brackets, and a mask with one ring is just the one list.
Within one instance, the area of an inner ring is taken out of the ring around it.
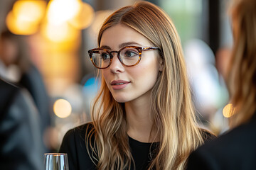
{"label": "rim of clear drinking glass at the bottom edge", "polygon": [[46,170],[68,170],[68,154],[46,153],[44,164]]}

